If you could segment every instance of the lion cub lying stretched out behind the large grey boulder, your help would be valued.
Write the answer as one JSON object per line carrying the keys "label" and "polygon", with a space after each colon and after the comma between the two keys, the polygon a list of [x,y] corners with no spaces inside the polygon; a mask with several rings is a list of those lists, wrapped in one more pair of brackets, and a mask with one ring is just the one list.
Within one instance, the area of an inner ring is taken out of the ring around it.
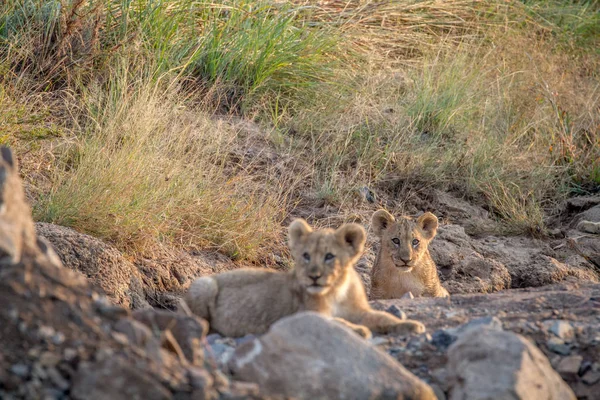
{"label": "lion cub lying stretched out behind the large grey boulder", "polygon": [[304,310],[331,316],[365,337],[369,330],[425,331],[420,322],[403,321],[369,306],[354,270],[366,240],[360,225],[313,231],[297,219],[288,237],[292,271],[240,269],[199,278],[185,296],[190,310],[208,320],[211,330],[233,337],[265,333],[280,318]]}

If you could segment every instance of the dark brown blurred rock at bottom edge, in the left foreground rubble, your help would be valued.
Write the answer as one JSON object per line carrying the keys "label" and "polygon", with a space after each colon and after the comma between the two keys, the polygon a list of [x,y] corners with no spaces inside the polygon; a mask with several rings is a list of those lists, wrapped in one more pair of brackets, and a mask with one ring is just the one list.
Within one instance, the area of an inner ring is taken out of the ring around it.
{"label": "dark brown blurred rock at bottom edge, in the left foreground rubble", "polygon": [[80,364],[73,378],[71,396],[79,400],[168,400],[172,397],[155,378],[120,358]]}

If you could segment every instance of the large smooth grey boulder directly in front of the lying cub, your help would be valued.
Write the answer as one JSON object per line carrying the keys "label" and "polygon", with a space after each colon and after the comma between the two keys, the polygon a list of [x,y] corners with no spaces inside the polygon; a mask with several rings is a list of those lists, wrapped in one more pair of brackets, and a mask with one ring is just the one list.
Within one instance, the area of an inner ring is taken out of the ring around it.
{"label": "large smooth grey boulder directly in front of the lying cub", "polygon": [[234,377],[272,395],[435,399],[427,384],[387,354],[313,312],[284,318],[240,346],[230,367]]}

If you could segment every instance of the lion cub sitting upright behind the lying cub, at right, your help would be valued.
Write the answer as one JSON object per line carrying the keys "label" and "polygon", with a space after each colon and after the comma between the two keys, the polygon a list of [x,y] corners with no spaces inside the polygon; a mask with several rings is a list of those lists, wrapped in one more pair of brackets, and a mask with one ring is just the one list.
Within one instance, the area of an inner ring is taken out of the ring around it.
{"label": "lion cub sitting upright behind the lying cub, at right", "polygon": [[448,297],[440,283],[427,246],[437,233],[438,220],[427,212],[417,221],[396,220],[385,210],[373,214],[372,228],[380,239],[371,270],[371,298],[395,299],[408,292],[415,296]]}

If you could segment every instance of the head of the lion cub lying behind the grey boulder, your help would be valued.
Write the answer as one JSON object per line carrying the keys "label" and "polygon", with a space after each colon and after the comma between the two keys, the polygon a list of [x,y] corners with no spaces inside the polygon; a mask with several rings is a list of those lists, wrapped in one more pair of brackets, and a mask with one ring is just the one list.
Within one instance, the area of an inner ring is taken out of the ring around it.
{"label": "head of the lion cub lying behind the grey boulder", "polygon": [[294,220],[288,233],[298,282],[313,295],[325,295],[343,280],[366,240],[365,230],[358,224],[313,231],[303,219]]}

